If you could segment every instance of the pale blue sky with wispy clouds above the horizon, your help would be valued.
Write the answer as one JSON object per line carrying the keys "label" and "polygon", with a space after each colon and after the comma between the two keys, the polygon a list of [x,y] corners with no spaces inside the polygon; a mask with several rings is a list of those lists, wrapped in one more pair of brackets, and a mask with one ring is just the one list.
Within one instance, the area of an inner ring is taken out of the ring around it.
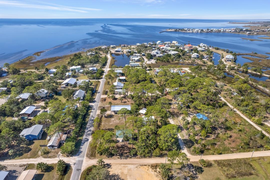
{"label": "pale blue sky with wispy clouds above the horizon", "polygon": [[0,0],[0,18],[270,19],[269,0]]}

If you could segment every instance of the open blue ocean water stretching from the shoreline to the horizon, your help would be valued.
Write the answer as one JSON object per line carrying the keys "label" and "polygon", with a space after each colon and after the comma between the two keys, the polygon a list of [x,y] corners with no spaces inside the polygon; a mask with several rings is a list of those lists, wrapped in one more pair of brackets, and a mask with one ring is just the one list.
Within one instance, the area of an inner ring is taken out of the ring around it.
{"label": "open blue ocean water stretching from the shoreline to the horizon", "polygon": [[[270,40],[248,41],[257,38],[229,33],[164,32],[168,28],[233,28],[242,24],[228,22],[242,20],[211,19],[0,19],[0,66],[44,51],[37,60],[62,56],[103,45],[119,45],[178,41],[182,44],[211,46],[234,52],[270,52]],[[245,20],[248,24],[248,21]],[[254,20],[249,20],[254,21]],[[239,58],[243,64],[248,59]]]}

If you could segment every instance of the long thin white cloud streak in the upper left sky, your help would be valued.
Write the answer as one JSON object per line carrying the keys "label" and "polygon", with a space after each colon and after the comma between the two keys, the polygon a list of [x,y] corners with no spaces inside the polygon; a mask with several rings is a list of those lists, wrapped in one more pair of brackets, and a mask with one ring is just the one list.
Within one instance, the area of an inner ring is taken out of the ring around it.
{"label": "long thin white cloud streak in the upper left sky", "polygon": [[46,9],[46,10],[56,10],[56,11],[75,11],[75,12],[88,12],[88,11],[101,10],[101,9],[93,9],[93,8],[62,6],[62,5],[56,5],[56,4],[54,4],[53,6],[29,4],[29,3],[21,2],[21,1],[0,1],[0,5],[14,6],[14,7],[19,7],[19,8]]}

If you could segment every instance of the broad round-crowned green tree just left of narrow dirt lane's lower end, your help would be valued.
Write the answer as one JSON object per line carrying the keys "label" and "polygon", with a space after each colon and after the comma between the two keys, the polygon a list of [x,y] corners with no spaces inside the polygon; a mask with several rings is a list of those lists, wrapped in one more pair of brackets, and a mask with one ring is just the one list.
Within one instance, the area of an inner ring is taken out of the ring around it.
{"label": "broad round-crowned green tree just left of narrow dirt lane's lower end", "polygon": [[177,149],[178,133],[180,130],[174,124],[168,124],[158,129],[157,138],[158,146],[163,151],[171,151]]}

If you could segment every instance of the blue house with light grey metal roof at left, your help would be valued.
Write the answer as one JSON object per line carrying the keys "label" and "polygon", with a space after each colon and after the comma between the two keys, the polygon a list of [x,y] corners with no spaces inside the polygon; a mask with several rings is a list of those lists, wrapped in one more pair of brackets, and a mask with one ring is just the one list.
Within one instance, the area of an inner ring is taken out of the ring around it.
{"label": "blue house with light grey metal roof at left", "polygon": [[36,124],[36,125],[32,126],[31,128],[23,129],[19,136],[24,137],[28,141],[38,140],[42,136],[42,133],[43,133],[42,128],[43,128],[42,125]]}

